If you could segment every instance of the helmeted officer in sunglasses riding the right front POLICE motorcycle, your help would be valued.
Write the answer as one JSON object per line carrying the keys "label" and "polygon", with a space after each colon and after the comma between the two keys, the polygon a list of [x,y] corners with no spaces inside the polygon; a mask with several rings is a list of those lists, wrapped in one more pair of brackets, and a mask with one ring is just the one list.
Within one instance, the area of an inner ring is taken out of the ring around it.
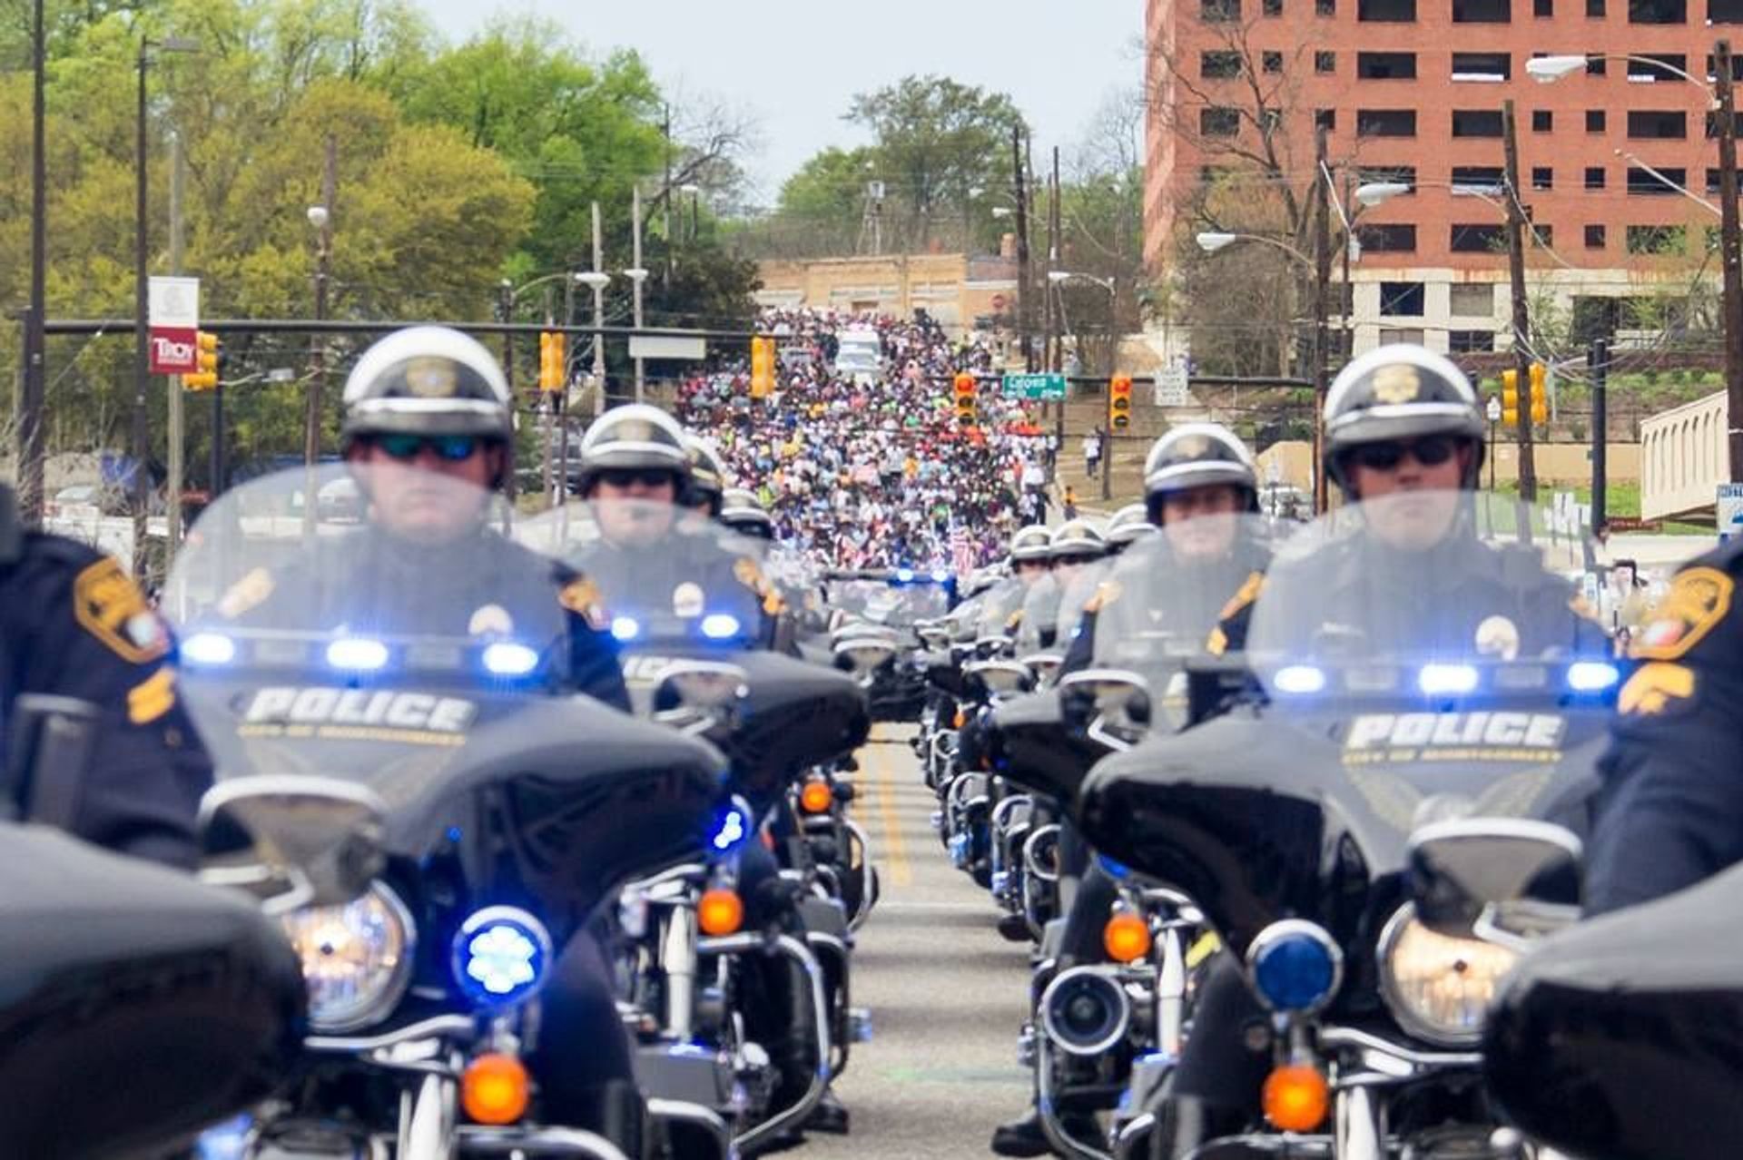
{"label": "helmeted officer in sunglasses riding the right front POLICE motorcycle", "polygon": [[[1476,629],[1508,617],[1523,655],[1544,648],[1598,650],[1602,632],[1570,608],[1569,585],[1546,573],[1529,549],[1494,549],[1476,538],[1475,503],[1483,462],[1483,409],[1448,359],[1414,345],[1389,345],[1351,361],[1325,402],[1325,465],[1349,502],[1361,502],[1360,535],[1333,536],[1272,568],[1241,590],[1211,644],[1246,646],[1253,601],[1264,587],[1314,594],[1292,624],[1311,648],[1328,624],[1370,625],[1384,644],[1476,651]],[[1412,599],[1375,599],[1375,583],[1408,583]],[[1407,624],[1375,625],[1393,608]],[[1306,655],[1306,651],[1302,653]],[[1243,1028],[1264,1010],[1239,965],[1218,953],[1199,991],[1194,1029],[1157,1123],[1157,1157],[1177,1160],[1206,1139],[1245,1127],[1258,1111],[1271,1052],[1251,1050]],[[1262,1040],[1264,1036],[1257,1036]]]}

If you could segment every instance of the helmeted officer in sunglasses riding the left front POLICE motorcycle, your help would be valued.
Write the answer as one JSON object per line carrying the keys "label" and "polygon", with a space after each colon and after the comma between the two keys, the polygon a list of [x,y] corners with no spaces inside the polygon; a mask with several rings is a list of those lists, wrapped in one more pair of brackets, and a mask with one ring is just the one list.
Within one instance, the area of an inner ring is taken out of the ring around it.
{"label": "helmeted officer in sunglasses riding the left front POLICE motorcycle", "polygon": [[[244,624],[446,631],[556,639],[554,679],[629,709],[591,580],[490,528],[512,470],[512,402],[497,361],[437,326],[396,331],[345,380],[345,462],[383,535],[317,549],[282,577],[249,577],[220,610]],[[378,585],[371,590],[370,585]],[[300,608],[286,608],[286,601]],[[553,1116],[638,1146],[641,1101],[612,974],[589,932],[570,939],[546,991],[533,1073]]]}

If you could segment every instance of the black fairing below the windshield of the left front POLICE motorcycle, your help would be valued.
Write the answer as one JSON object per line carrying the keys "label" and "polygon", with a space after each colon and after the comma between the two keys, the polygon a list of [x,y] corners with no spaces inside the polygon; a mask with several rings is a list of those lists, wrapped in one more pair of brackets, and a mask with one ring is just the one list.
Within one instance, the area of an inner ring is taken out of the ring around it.
{"label": "black fairing below the windshield of the left front POLICE motorcycle", "polygon": [[[706,742],[589,697],[382,685],[394,695],[464,702],[474,716],[455,735],[427,733],[425,744],[410,740],[418,737],[411,730],[376,738],[342,726],[270,737],[248,723],[251,705],[275,688],[268,679],[207,672],[188,681],[188,697],[221,777],[357,780],[387,803],[389,855],[418,862],[455,850],[478,902],[502,900],[504,890],[530,895],[554,925],[706,848],[725,798],[720,754]],[[309,688],[326,691],[302,691]]]}

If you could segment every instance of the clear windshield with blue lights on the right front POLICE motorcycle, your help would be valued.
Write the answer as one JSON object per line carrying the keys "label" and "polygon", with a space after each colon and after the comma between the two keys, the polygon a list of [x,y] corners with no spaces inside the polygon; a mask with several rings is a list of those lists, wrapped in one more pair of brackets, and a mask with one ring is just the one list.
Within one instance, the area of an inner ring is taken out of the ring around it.
{"label": "clear windshield with blue lights on the right front POLICE motorcycle", "polygon": [[1281,705],[1520,698],[1614,679],[1576,580],[1591,554],[1553,512],[1468,491],[1340,507],[1283,547],[1246,658]]}

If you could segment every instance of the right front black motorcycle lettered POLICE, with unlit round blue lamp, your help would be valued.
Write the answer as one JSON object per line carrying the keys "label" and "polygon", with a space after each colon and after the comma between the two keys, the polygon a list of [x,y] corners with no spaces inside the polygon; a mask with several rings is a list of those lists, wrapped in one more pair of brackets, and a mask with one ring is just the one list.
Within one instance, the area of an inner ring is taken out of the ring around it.
{"label": "right front black motorcycle lettered POLICE, with unlit round blue lamp", "polygon": [[[1089,841],[1190,899],[1253,1012],[1206,1026],[1197,1005],[1124,1155],[1152,1130],[1156,1155],[1511,1155],[1476,1043],[1516,953],[1424,921],[1407,871],[1433,824],[1583,820],[1619,676],[1555,575],[1583,552],[1499,498],[1342,507],[1276,556],[1245,657],[1189,662],[1199,723],[1089,773]],[[1253,1083],[1232,1096],[1255,1113],[1171,1143],[1194,1038],[1239,1043],[1241,1026]]]}

